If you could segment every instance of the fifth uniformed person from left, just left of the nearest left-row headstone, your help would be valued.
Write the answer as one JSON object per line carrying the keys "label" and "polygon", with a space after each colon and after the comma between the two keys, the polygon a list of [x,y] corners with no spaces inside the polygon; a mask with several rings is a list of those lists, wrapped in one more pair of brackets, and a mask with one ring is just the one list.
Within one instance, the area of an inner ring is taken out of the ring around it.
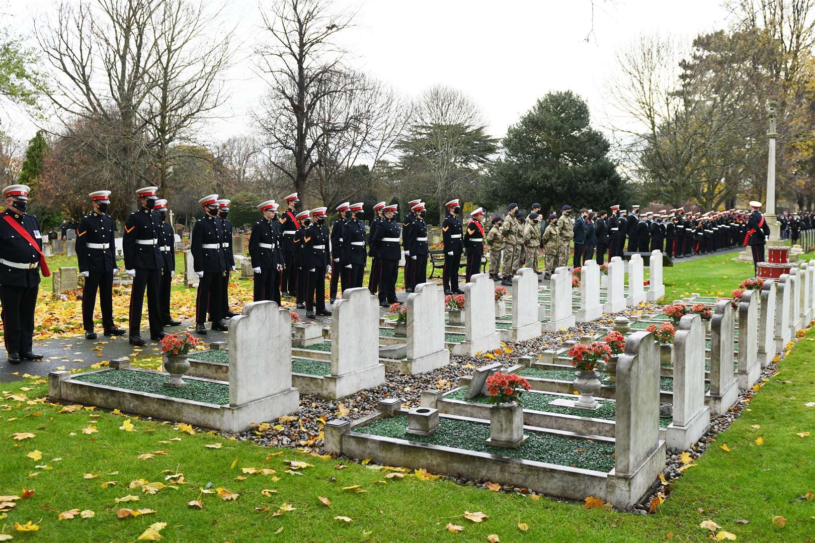
{"label": "fifth uniformed person from left, just left of the nearest left-row headstone", "polygon": [[192,252],[193,269],[198,274],[198,296],[196,297],[196,334],[206,334],[206,315],[209,311],[209,322],[213,330],[227,331],[227,325],[221,320],[221,287],[226,275],[227,260],[224,257],[221,243],[223,226],[218,218],[218,195],[209,195],[198,200],[204,208],[205,217],[196,221],[192,227],[190,251]]}

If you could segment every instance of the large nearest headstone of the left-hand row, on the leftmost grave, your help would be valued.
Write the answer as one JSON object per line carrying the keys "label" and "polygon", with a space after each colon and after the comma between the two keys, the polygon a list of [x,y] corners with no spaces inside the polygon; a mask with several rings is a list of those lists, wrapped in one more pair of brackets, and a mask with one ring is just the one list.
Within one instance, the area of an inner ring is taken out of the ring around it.
{"label": "large nearest headstone of the left-hand row, on the leftmost grave", "polygon": [[[289,309],[272,301],[246,304],[229,322],[229,404],[246,405],[277,396],[275,413],[258,422],[297,411],[292,388],[292,339]],[[268,403],[268,402],[267,402]]]}

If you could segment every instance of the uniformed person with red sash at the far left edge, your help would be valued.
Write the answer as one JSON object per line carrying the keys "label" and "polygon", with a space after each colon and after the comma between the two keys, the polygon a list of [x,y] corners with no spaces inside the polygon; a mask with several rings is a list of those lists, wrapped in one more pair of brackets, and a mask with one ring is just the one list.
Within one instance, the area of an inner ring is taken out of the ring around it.
{"label": "uniformed person with red sash at the far left edge", "polygon": [[25,212],[29,204],[27,185],[10,185],[2,190],[6,210],[0,221],[0,302],[2,302],[3,342],[10,364],[40,360],[32,353],[34,307],[40,284],[40,270],[48,277],[42,255],[42,234],[37,217]]}

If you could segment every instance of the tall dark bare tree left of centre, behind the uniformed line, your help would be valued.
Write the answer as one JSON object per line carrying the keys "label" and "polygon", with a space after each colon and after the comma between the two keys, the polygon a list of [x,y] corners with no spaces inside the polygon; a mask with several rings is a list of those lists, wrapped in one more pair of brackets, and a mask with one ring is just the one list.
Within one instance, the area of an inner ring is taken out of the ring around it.
{"label": "tall dark bare tree left of centre, behind the uniformed line", "polygon": [[267,160],[304,192],[315,168],[312,155],[324,133],[312,129],[319,104],[355,89],[354,78],[344,77],[344,51],[333,39],[349,28],[354,14],[334,13],[330,0],[272,0],[261,7],[268,43],[256,51],[269,90],[255,120],[269,147],[287,151],[293,169],[267,153]]}

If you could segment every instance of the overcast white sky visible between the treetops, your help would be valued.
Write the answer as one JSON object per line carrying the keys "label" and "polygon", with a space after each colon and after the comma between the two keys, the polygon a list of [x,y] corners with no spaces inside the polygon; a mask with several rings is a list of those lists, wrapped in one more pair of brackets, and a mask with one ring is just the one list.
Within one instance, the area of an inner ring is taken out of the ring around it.
{"label": "overcast white sky visible between the treetops", "polygon": [[[593,22],[591,0],[336,1],[359,9],[357,26],[344,37],[350,63],[408,96],[437,83],[464,90],[497,137],[550,90],[583,96],[593,125],[606,129],[614,108],[604,87],[620,49],[641,33],[690,39],[728,23],[719,0],[594,0]],[[11,0],[11,24],[31,35],[33,15],[54,6]],[[251,58],[263,39],[260,23],[258,0],[231,0],[223,24],[237,25],[245,45],[228,72],[231,98],[206,127],[209,138],[253,130],[250,113],[263,92]],[[8,113],[7,130],[30,138],[34,125]]]}

